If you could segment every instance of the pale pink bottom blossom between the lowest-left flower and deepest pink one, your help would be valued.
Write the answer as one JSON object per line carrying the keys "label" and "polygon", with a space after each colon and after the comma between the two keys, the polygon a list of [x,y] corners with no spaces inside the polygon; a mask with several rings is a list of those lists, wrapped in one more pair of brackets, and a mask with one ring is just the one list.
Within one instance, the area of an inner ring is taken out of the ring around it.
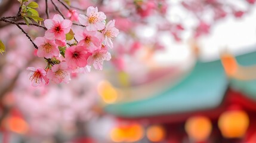
{"label": "pale pink bottom blossom between the lowest-left flower and deepest pink one", "polygon": [[60,64],[55,64],[51,70],[48,70],[47,77],[55,83],[69,83],[70,71],[67,67],[66,62],[61,62]]}

